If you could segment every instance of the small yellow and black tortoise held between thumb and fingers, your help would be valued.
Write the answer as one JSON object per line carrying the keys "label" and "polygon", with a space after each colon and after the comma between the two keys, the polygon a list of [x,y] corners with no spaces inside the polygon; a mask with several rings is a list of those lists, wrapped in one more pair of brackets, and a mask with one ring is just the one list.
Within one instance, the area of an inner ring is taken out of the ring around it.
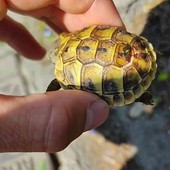
{"label": "small yellow and black tortoise held between thumb and fingers", "polygon": [[47,91],[78,89],[94,93],[111,106],[134,101],[153,104],[146,91],[156,74],[156,53],[143,37],[120,27],[90,26],[60,35],[56,79]]}

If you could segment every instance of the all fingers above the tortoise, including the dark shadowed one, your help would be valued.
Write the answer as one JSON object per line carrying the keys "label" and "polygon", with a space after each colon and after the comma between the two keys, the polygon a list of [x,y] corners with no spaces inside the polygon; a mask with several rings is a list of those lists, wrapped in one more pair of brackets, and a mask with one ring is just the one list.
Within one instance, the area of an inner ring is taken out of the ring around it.
{"label": "all fingers above the tortoise, including the dark shadowed one", "polygon": [[[95,24],[123,26],[112,0],[85,0],[83,3],[82,0],[41,0],[36,1],[36,3],[33,0],[30,0],[29,3],[27,0],[7,0],[5,2],[9,8],[16,12],[44,20],[55,31],[73,32]],[[5,11],[6,7],[2,5],[0,9],[3,9],[0,10],[3,13],[0,16],[3,17],[5,12],[2,11]],[[27,58],[41,59],[45,55],[45,50],[30,33],[21,24],[8,17],[0,22],[0,40],[7,42]]]}

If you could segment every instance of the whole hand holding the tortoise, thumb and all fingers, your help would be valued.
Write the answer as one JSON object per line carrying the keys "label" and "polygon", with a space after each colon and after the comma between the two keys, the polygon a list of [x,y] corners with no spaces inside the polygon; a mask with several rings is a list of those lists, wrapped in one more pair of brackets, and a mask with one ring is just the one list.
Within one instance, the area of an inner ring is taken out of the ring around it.
{"label": "whole hand holding the tortoise, thumb and all fingers", "polygon": [[[93,1],[0,0],[0,40],[30,59],[40,59],[45,53],[21,24],[5,15],[7,8],[44,20],[56,31],[75,31],[92,24],[123,26],[111,0]],[[0,103],[3,152],[60,151],[84,131],[103,123],[109,112],[96,95],[78,90],[0,95]]]}

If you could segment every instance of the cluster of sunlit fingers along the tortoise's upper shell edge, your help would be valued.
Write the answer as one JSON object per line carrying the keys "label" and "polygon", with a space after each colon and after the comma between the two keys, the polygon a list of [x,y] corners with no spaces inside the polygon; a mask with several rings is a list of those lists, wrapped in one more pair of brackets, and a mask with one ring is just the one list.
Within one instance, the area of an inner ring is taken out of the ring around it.
{"label": "cluster of sunlit fingers along the tortoise's upper shell edge", "polygon": [[73,32],[90,25],[124,26],[112,0],[40,0],[36,3],[30,0],[29,5],[26,1],[7,2],[16,12],[44,19],[54,30]]}

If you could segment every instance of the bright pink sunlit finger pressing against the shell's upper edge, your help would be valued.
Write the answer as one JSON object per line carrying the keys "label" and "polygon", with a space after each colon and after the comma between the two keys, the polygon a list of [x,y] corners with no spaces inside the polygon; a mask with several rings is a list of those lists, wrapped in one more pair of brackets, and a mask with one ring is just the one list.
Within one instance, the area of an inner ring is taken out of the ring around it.
{"label": "bright pink sunlit finger pressing against the shell's upper edge", "polygon": [[[74,8],[73,6],[70,5],[70,9]],[[49,16],[49,20],[63,31],[73,32],[90,25],[124,26],[112,0],[95,0],[83,14],[70,14],[62,10],[55,14]]]}

